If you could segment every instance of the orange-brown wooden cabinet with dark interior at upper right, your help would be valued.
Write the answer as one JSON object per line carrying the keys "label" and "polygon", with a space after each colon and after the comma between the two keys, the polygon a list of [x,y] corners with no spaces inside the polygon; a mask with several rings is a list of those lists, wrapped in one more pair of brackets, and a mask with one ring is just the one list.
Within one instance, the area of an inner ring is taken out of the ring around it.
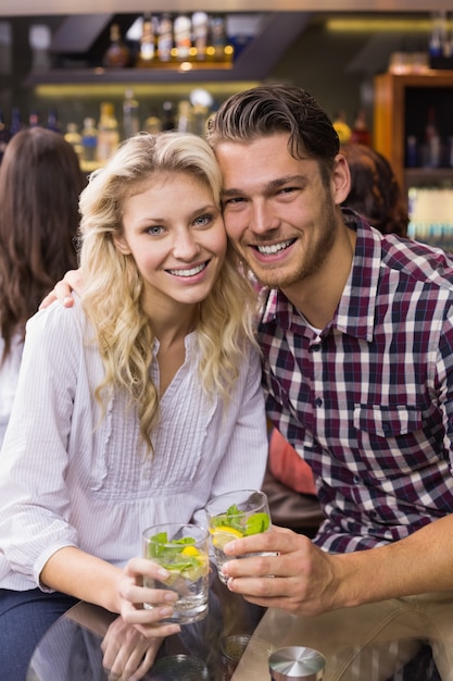
{"label": "orange-brown wooden cabinet with dark interior at upper right", "polygon": [[[441,138],[441,158],[431,166],[426,158],[426,126],[430,112]],[[417,146],[407,158],[407,139]],[[415,139],[414,139],[415,138]],[[390,161],[401,186],[453,186],[453,71],[415,74],[385,73],[375,77],[374,146]]]}

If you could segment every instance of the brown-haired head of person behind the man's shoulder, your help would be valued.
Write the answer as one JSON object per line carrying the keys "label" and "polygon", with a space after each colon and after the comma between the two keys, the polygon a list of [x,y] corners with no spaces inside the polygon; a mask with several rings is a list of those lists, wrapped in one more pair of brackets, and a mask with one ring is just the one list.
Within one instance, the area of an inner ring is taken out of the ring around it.
{"label": "brown-haired head of person behind the man's shoulder", "polygon": [[407,236],[407,201],[385,156],[366,145],[349,143],[340,152],[348,161],[351,189],[342,202],[381,234]]}

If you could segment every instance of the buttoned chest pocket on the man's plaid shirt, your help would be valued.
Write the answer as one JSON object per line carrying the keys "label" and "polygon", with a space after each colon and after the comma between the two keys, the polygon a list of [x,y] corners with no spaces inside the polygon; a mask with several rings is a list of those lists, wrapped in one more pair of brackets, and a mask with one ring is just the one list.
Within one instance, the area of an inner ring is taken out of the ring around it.
{"label": "buttoned chest pocket on the man's plaid shirt", "polygon": [[354,405],[360,457],[375,478],[395,478],[437,458],[423,433],[417,406]]}

